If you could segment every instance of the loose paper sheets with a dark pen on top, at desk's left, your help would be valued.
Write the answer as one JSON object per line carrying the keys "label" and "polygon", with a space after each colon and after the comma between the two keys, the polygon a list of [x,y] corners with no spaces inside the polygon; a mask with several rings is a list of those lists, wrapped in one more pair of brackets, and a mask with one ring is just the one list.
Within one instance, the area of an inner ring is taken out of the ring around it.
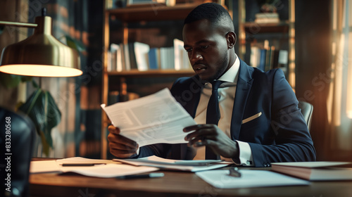
{"label": "loose paper sheets with a dark pen on top, at desk's left", "polygon": [[[106,163],[106,165],[63,167],[63,163]],[[89,177],[111,178],[130,174],[140,174],[159,170],[157,167],[133,166],[116,163],[113,160],[88,158],[65,158],[61,160],[41,160],[30,163],[30,173],[75,172]]]}

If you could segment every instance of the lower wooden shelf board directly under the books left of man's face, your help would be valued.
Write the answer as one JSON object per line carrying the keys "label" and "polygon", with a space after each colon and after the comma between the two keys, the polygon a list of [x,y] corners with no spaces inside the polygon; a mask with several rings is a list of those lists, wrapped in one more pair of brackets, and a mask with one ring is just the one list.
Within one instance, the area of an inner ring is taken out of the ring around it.
{"label": "lower wooden shelf board directly under the books left of man's face", "polygon": [[108,72],[109,76],[120,77],[187,77],[195,75],[194,70],[128,70]]}

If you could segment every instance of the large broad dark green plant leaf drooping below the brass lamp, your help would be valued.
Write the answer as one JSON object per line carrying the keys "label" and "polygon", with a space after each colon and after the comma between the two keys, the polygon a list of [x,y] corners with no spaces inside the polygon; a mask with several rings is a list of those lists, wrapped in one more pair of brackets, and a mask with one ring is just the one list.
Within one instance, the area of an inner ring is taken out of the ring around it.
{"label": "large broad dark green plant leaf drooping below the brass lamp", "polygon": [[43,152],[46,155],[49,154],[49,148],[54,148],[51,129],[61,121],[61,112],[54,98],[49,91],[37,89],[18,110],[23,111],[32,119],[42,138]]}

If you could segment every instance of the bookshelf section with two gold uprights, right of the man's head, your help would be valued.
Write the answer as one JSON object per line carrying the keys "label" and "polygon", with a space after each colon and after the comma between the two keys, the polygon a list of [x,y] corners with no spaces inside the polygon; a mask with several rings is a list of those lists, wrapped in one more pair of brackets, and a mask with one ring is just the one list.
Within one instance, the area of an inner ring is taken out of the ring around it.
{"label": "bookshelf section with two gold uprights, right of the man's head", "polygon": [[[287,11],[283,13],[284,17],[280,15],[280,20],[277,23],[256,23],[251,12],[259,11],[254,8],[254,4],[258,1],[254,0],[239,0],[238,1],[238,25],[239,25],[239,51],[237,55],[247,63],[249,62],[249,53],[251,53],[251,43],[256,37],[265,39],[265,37],[275,37],[274,39],[281,39],[280,45],[284,45],[283,49],[288,52],[287,60],[287,81],[292,89],[296,88],[296,72],[295,72],[295,1],[285,0],[279,1],[279,9]],[[247,6],[246,6],[247,5]],[[250,8],[249,8],[250,7]],[[281,49],[280,47],[277,47]]]}

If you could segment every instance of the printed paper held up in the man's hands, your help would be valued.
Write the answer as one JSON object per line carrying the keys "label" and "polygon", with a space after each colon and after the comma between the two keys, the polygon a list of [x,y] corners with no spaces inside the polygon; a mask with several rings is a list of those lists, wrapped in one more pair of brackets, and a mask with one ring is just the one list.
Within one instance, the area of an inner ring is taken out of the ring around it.
{"label": "printed paper held up in the man's hands", "polygon": [[167,88],[132,101],[101,104],[101,108],[121,134],[137,141],[139,146],[187,143],[187,134],[182,129],[196,125]]}

